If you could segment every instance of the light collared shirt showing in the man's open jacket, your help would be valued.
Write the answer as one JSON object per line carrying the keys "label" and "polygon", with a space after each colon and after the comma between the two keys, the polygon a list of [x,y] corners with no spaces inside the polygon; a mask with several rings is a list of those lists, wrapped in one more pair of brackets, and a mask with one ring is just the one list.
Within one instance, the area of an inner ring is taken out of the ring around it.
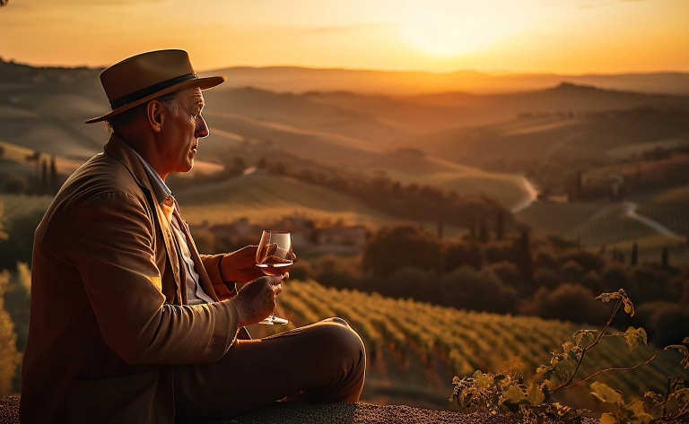
{"label": "light collared shirt showing in the man's open jacket", "polygon": [[[174,198],[174,195],[172,195],[172,190],[170,190],[170,187],[167,184],[165,184],[165,181],[162,180],[161,176],[159,176],[158,173],[155,172],[155,169],[153,169],[153,167],[149,165],[149,163],[145,161],[144,158],[142,158],[138,152],[135,151],[135,153],[136,156],[139,157],[141,164],[144,166],[144,170],[148,175],[148,179],[151,181],[151,186],[153,188],[155,196],[158,199],[166,199],[170,195]],[[172,233],[175,235],[175,238],[177,239],[179,251],[182,254],[182,259],[184,260],[184,264],[187,269],[188,305],[213,303],[214,300],[211,299],[210,296],[205,294],[203,287],[201,286],[201,284],[199,284],[199,281],[201,279],[199,278],[198,273],[196,273],[196,264],[194,264],[194,259],[191,257],[191,251],[189,250],[187,237],[179,228],[180,223],[177,221],[177,218],[174,214],[171,216],[170,224],[172,227]]]}

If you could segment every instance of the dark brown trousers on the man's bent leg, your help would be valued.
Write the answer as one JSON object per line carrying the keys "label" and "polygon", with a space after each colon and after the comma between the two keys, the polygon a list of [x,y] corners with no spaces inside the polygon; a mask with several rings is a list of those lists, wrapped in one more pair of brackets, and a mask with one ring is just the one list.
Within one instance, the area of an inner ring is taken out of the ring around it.
{"label": "dark brown trousers on the man's bent leg", "polygon": [[357,402],[366,352],[342,318],[257,340],[237,340],[213,364],[175,367],[175,415],[220,419],[298,394],[300,401]]}

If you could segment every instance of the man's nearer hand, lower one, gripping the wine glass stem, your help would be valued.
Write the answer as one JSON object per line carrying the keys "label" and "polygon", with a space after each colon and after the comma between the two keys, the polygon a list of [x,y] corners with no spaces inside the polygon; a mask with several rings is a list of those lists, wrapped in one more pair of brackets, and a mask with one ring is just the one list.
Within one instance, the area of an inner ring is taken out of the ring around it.
{"label": "man's nearer hand, lower one, gripping the wine glass stem", "polygon": [[235,299],[239,326],[256,324],[275,310],[275,296],[283,290],[282,275],[264,275],[244,285]]}

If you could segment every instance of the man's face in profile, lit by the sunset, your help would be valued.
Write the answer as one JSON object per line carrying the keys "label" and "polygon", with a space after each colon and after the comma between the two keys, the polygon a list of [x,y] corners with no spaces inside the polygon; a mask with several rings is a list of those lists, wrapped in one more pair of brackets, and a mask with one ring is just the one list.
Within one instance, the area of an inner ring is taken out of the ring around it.
{"label": "man's face in profile, lit by the sunset", "polygon": [[188,172],[194,167],[198,140],[208,136],[208,125],[201,116],[204,96],[196,88],[182,91],[174,101],[177,115],[168,113],[163,125],[165,157],[170,172]]}

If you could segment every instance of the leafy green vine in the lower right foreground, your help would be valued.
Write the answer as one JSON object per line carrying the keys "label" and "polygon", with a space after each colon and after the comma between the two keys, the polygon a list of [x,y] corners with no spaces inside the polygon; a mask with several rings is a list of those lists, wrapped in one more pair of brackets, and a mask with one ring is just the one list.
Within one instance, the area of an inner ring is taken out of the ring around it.
{"label": "leafy green vine in the lower right foreground", "polygon": [[[640,368],[649,364],[658,356],[656,352],[650,359],[632,367],[604,368],[574,381],[586,353],[603,341],[604,337],[624,337],[629,350],[639,344],[647,344],[646,331],[639,327],[629,327],[624,332],[608,333],[617,312],[624,307],[624,312],[634,315],[634,306],[622,289],[613,293],[603,293],[596,298],[603,303],[614,301],[612,313],[603,329],[579,330],[572,334],[572,342],[564,342],[562,352],[551,352],[550,365],[536,368],[536,374],[542,375],[541,384],[527,384],[518,367],[511,367],[500,373],[483,373],[475,371],[474,375],[464,378],[455,377],[452,381],[454,390],[450,402],[457,401],[466,411],[487,411],[491,415],[508,414],[511,418],[526,423],[563,422],[580,424],[586,410],[577,410],[557,402],[553,394],[576,385],[588,382],[591,378],[609,371],[625,371]],[[682,344],[667,346],[665,349],[679,350],[683,354],[679,372],[667,379],[666,393],[646,392],[641,399],[624,402],[621,392],[599,382],[590,385],[591,394],[599,401],[610,403],[613,412],[600,417],[601,424],[664,424],[670,422],[689,422],[689,388],[681,376],[689,368],[689,337]],[[662,406],[662,410],[660,407]]]}

